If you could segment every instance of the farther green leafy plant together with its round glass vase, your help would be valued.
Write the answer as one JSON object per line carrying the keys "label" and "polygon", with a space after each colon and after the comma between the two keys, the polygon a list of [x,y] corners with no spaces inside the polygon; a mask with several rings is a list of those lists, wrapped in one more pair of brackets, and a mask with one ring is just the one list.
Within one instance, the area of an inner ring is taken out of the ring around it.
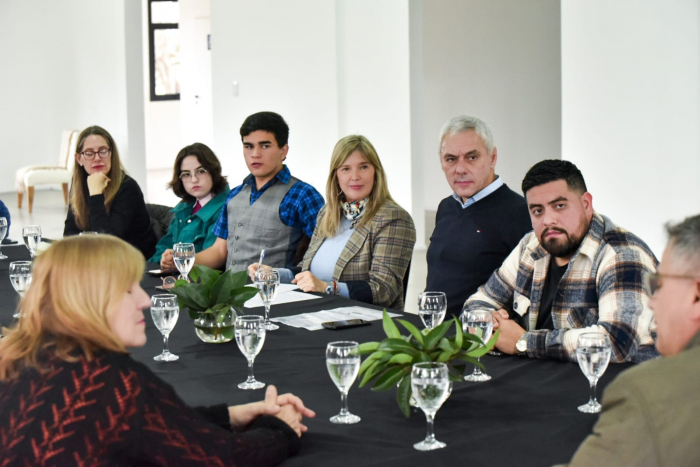
{"label": "farther green leafy plant together with its round glass vase", "polygon": [[235,307],[253,298],[258,289],[246,287],[246,271],[232,273],[195,265],[192,282],[180,279],[171,289],[180,308],[194,320],[197,336],[207,343],[229,342],[234,336]]}

